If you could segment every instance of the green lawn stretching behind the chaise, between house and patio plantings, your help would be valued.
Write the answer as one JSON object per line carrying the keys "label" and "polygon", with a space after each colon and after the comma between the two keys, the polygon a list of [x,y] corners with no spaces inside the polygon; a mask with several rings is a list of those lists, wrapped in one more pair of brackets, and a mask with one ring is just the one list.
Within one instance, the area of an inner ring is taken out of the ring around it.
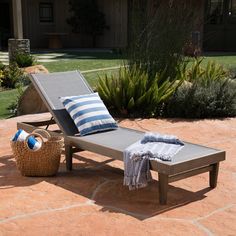
{"label": "green lawn stretching behind the chaise, between house and patio plantings", "polygon": [[[35,54],[37,56],[37,54]],[[124,58],[114,53],[81,53],[81,52],[63,52],[53,53],[54,62],[42,62],[49,72],[60,72],[69,70],[94,70],[100,68],[109,68],[119,65],[123,65]],[[40,54],[41,58],[44,54]],[[208,61],[214,60],[219,64],[224,65],[228,69],[232,69],[236,72],[236,53],[232,54],[206,54],[204,56],[203,64]],[[95,88],[99,76],[104,74],[114,74],[117,70],[104,70],[98,72],[84,73],[85,78]],[[4,119],[10,116],[7,107],[16,99],[17,91],[8,90],[0,91],[0,119]]]}

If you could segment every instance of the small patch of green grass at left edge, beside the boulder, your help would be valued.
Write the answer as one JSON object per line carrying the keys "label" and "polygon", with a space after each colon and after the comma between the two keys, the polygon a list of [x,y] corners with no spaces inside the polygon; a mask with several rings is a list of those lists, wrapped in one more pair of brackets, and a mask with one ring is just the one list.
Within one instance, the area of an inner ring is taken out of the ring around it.
{"label": "small patch of green grass at left edge, beside the boulder", "polygon": [[17,89],[0,91],[0,119],[5,119],[11,116],[7,108],[17,98]]}

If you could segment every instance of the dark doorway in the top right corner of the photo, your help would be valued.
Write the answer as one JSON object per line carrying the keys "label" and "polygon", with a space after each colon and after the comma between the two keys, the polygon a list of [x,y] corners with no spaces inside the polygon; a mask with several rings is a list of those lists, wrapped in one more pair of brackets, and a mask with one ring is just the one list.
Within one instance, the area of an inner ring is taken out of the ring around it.
{"label": "dark doorway in the top right corner of the photo", "polygon": [[207,0],[203,48],[236,51],[236,0]]}

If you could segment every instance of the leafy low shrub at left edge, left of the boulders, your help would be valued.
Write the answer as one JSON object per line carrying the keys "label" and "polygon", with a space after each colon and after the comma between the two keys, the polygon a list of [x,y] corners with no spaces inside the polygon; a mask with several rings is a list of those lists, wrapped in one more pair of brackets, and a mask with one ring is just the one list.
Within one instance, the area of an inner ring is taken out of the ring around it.
{"label": "leafy low shrub at left edge, left of the boulders", "polygon": [[5,88],[16,88],[19,83],[28,83],[28,77],[24,72],[15,63],[5,66],[1,85]]}

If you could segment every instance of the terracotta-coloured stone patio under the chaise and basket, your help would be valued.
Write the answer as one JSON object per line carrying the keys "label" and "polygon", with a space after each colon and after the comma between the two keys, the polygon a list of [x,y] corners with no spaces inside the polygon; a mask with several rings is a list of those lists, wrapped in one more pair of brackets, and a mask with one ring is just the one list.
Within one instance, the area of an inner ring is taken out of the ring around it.
{"label": "terracotta-coloured stone patio under the chaise and basket", "polygon": [[208,174],[174,182],[168,204],[159,205],[157,174],[138,191],[122,186],[123,165],[89,152],[74,155],[67,172],[64,156],[56,177],[22,177],[9,145],[16,122],[0,121],[0,236],[5,235],[236,235],[236,118],[223,120],[123,120],[121,125],[171,133],[226,150],[218,186]]}

